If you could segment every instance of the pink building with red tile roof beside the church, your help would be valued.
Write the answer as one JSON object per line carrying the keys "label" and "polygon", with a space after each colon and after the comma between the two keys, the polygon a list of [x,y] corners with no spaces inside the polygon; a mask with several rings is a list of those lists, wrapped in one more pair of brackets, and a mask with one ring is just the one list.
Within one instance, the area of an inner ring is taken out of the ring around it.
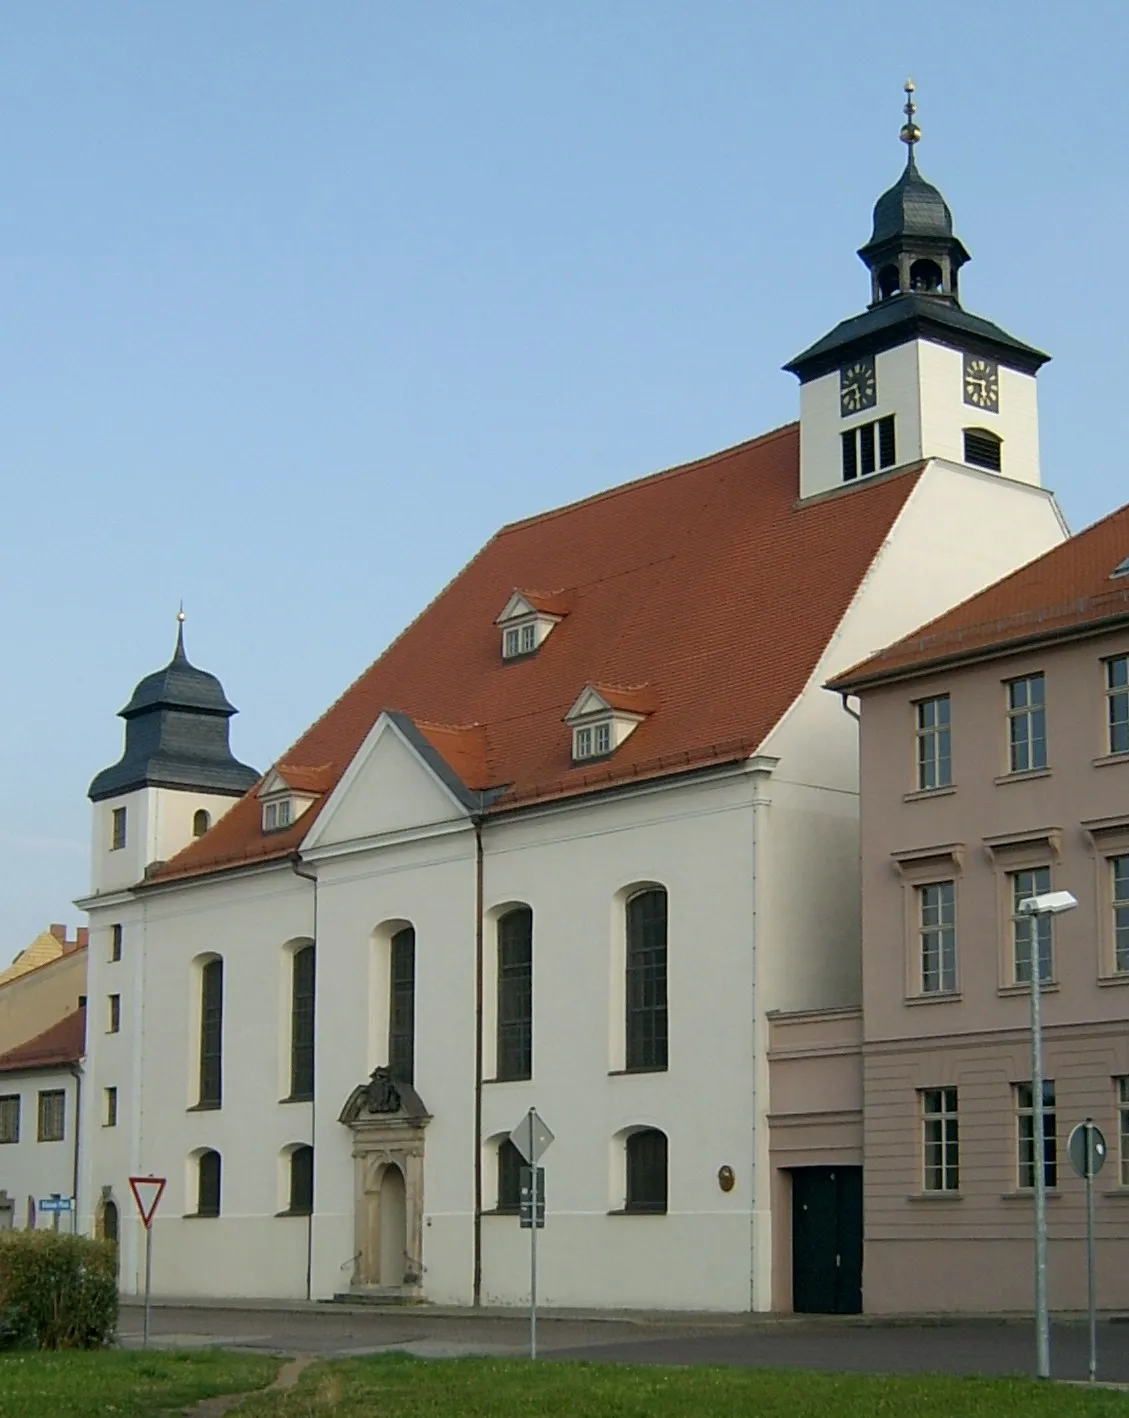
{"label": "pink building with red tile roof beside the church", "polygon": [[[1109,1144],[1095,1184],[1098,1302],[1123,1309],[1129,506],[828,688],[861,705],[862,1010],[772,1022],[773,1157],[780,1193],[793,1183],[791,1239],[808,1245],[797,1201],[808,1204],[814,1178],[800,1195],[800,1170],[838,1170],[840,1211],[861,1181],[867,1312],[1031,1307],[1038,950],[1051,980],[1051,1306],[1085,1307],[1085,1187],[1067,1137],[1092,1117]],[[1023,898],[1061,889],[1078,899],[1069,915],[1017,915]],[[787,1306],[790,1282],[810,1278],[787,1234],[776,1239]]]}

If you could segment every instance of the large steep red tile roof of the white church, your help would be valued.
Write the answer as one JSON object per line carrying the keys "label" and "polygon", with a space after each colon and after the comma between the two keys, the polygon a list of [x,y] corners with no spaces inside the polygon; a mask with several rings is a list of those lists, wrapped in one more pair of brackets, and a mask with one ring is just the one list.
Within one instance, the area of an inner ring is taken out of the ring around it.
{"label": "large steep red tile roof of the white church", "polygon": [[[383,709],[407,715],[468,788],[499,790],[495,813],[755,752],[816,669],[918,475],[797,505],[799,447],[790,424],[502,527],[282,756],[282,776],[330,764],[330,787]],[[536,654],[506,662],[495,618],[515,586],[557,587],[569,614]],[[654,708],[587,767],[573,766],[562,723],[586,685]],[[150,879],[285,856],[319,807],[264,835],[252,791]]]}

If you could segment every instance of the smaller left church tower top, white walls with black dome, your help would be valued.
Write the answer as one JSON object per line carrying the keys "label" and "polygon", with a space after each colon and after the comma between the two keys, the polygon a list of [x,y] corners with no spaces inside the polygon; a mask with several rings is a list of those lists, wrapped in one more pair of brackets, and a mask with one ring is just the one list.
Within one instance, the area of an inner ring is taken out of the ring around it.
{"label": "smaller left church tower top, white walls with black dome", "polygon": [[94,803],[92,889],[122,891],[145,869],[201,837],[258,781],[228,742],[235,713],[216,675],[184,652],[184,613],[176,649],[133,691],[121,759],[89,786]]}

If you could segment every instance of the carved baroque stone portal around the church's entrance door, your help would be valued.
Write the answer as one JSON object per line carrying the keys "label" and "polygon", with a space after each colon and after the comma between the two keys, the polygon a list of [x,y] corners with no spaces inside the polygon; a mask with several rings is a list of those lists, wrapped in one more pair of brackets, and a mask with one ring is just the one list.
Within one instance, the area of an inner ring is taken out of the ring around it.
{"label": "carved baroque stone portal around the church's entrance door", "polygon": [[431,1115],[386,1068],[349,1095],[353,1133],[353,1289],[423,1297],[424,1129]]}

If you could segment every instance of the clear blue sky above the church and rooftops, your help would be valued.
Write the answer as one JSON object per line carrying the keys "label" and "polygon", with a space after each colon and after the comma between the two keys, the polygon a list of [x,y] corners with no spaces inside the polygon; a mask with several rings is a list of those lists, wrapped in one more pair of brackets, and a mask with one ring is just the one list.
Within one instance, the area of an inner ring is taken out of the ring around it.
{"label": "clear blue sky above the church and rooftops", "polygon": [[[504,522],[794,417],[923,173],[1129,499],[1129,7],[51,0],[0,28],[0,957],[78,920],[116,710],[191,658],[265,767]],[[1129,549],[1126,549],[1129,552]]]}

